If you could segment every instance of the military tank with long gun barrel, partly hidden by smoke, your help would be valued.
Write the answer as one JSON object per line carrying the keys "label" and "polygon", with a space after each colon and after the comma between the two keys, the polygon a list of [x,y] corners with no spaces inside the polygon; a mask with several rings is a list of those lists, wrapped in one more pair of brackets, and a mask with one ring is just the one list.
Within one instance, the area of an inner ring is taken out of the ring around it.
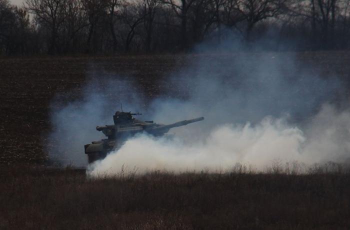
{"label": "military tank with long gun barrel, partly hidden by smoke", "polygon": [[170,128],[204,119],[204,117],[198,117],[171,124],[158,124],[153,122],[153,120],[142,121],[135,119],[134,115],[141,115],[141,113],[116,111],[113,115],[114,124],[96,127],[96,130],[102,131],[107,138],[84,145],[89,163],[103,159],[110,151],[118,150],[128,138],[136,133],[146,132],[153,136],[163,136]]}

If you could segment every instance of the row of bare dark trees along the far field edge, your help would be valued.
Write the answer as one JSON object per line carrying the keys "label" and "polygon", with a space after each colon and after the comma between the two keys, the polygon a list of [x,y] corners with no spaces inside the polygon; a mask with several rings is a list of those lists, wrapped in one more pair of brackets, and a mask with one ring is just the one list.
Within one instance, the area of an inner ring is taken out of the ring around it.
{"label": "row of bare dark trees along the far field edge", "polygon": [[[0,0],[0,55],[179,52],[228,34],[269,50],[350,46],[350,0]],[[274,42],[270,42],[273,40]]]}

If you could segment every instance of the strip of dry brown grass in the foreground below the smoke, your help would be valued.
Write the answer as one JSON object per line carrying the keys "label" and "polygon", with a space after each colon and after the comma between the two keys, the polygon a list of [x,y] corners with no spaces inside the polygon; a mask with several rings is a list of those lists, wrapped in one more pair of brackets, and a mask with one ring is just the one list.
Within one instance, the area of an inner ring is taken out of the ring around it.
{"label": "strip of dry brown grass in the foreground below the smoke", "polygon": [[81,171],[6,170],[0,228],[346,229],[348,173],[150,172],[93,179]]}

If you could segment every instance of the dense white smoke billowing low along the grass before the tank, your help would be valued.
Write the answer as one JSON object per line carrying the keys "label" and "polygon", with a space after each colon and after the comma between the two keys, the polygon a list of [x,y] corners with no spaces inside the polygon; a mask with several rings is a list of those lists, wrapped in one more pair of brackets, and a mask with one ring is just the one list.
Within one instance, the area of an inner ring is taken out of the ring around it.
{"label": "dense white smoke billowing low along the grass before the tank", "polygon": [[229,171],[237,163],[264,171],[275,162],[341,163],[349,159],[349,130],[350,111],[336,112],[325,104],[305,130],[268,116],[255,125],[218,125],[205,139],[193,142],[141,134],[91,165],[89,173]]}

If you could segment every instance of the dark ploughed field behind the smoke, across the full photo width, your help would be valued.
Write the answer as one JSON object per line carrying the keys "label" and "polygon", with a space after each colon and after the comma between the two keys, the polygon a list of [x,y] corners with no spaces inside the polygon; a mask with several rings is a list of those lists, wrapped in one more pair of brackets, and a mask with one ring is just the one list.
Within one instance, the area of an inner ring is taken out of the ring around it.
{"label": "dark ploughed field behind the smoke, across the full photo width", "polygon": [[[51,128],[49,117],[53,98],[65,93],[68,93],[68,101],[78,98],[84,82],[95,75],[96,70],[111,78],[118,76],[132,81],[137,90],[144,92],[146,99],[151,99],[167,94],[172,87],[166,81],[167,76],[193,61],[213,58],[232,61],[259,56],[278,59],[280,55],[290,53],[0,58],[0,164],[44,164],[47,160],[44,144]],[[324,76],[336,75],[344,83],[350,82],[350,52],[292,55],[296,56],[296,67],[300,70],[313,66],[311,69]],[[174,96],[185,95],[178,90]]]}

